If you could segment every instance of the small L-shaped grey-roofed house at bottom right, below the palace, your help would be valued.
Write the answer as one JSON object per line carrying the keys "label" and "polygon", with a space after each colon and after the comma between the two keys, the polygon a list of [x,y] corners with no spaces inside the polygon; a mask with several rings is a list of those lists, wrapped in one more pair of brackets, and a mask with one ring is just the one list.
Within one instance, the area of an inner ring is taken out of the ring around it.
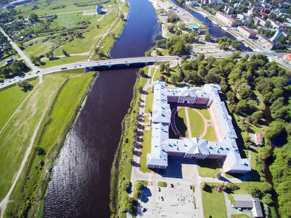
{"label": "small L-shaped grey-roofed house at bottom right, below the palace", "polygon": [[248,194],[232,194],[232,197],[234,208],[251,209],[253,217],[263,217],[262,208],[258,198],[253,198]]}

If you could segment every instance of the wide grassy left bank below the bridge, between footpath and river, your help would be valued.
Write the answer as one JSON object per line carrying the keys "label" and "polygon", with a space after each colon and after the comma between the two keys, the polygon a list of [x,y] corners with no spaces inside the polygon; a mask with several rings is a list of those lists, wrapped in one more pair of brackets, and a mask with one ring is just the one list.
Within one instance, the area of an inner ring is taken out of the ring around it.
{"label": "wide grassy left bank below the bridge, between footpath and river", "polygon": [[74,69],[44,75],[42,83],[0,134],[0,141],[5,142],[0,148],[5,154],[0,158],[0,200],[7,194],[26,149],[32,147],[10,196],[5,218],[42,216],[54,159],[95,81],[94,74]]}

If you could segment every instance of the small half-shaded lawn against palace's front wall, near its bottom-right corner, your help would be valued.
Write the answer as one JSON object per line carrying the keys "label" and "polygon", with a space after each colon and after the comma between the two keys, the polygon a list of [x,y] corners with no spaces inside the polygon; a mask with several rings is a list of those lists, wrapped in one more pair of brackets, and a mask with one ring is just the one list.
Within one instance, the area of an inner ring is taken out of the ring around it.
{"label": "small half-shaded lawn against palace's front wall, near its bottom-right corner", "polygon": [[212,177],[219,172],[218,163],[215,159],[197,159],[198,171],[201,177]]}

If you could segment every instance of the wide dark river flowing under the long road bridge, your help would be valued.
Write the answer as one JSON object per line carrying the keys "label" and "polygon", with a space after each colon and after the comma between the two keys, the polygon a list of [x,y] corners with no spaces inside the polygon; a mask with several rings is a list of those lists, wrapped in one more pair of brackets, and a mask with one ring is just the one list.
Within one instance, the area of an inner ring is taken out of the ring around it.
{"label": "wide dark river flowing under the long road bridge", "polygon": [[[129,0],[130,14],[113,58],[144,56],[161,39],[148,0]],[[101,71],[53,167],[46,218],[109,218],[110,169],[137,69]]]}

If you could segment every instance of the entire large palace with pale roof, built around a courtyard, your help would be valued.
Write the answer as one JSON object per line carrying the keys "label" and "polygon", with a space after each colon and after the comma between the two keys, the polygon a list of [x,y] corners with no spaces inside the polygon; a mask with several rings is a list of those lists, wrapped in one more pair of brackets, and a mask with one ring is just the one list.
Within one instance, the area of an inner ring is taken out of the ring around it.
{"label": "entire large palace with pale roof, built around a courtyard", "polygon": [[[244,173],[251,170],[247,159],[242,159],[235,139],[237,135],[227,113],[226,105],[220,101],[220,85],[205,84],[202,90],[194,88],[167,88],[165,82],[153,82],[151,153],[147,153],[147,168],[166,168],[168,156],[196,159],[221,159],[227,173]],[[169,127],[174,118],[169,103],[194,103],[208,106],[218,141],[199,138],[171,139]]]}

